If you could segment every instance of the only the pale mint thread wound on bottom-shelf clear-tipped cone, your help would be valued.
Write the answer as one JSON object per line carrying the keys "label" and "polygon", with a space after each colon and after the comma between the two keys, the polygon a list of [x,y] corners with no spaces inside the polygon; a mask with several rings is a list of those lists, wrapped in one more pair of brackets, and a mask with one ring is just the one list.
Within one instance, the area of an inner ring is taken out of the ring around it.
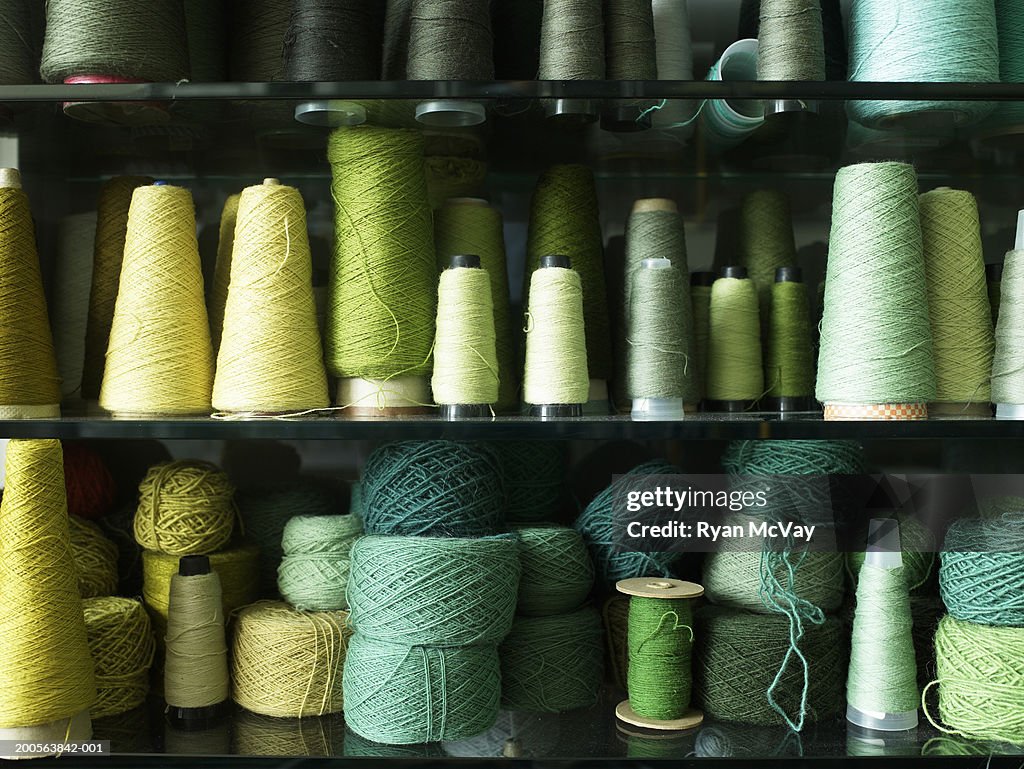
{"label": "only the pale mint thread wound on bottom-shelf clear-tipped cone", "polygon": [[860,569],[846,698],[863,714],[904,714],[921,703],[906,582],[902,566]]}

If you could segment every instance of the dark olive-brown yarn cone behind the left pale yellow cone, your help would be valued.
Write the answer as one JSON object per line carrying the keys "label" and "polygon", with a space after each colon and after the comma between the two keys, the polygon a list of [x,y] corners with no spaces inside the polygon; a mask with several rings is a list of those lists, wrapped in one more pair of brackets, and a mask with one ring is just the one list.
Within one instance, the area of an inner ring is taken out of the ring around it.
{"label": "dark olive-brown yarn cone behind the left pale yellow cone", "polygon": [[89,316],[85,327],[85,360],[82,364],[82,397],[87,400],[99,397],[99,386],[103,381],[132,195],[135,187],[152,183],[153,179],[147,176],[115,176],[99,187]]}

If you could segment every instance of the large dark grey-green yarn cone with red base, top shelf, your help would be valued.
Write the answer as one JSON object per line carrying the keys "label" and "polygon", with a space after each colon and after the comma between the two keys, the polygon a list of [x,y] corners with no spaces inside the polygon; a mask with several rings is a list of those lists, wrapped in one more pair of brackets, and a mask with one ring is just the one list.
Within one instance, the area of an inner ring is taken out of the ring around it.
{"label": "large dark grey-green yarn cone with red base, top shelf", "polygon": [[[181,0],[48,0],[40,74],[47,83],[176,83],[188,72]],[[170,120],[155,101],[66,101],[88,123],[140,126]]]}

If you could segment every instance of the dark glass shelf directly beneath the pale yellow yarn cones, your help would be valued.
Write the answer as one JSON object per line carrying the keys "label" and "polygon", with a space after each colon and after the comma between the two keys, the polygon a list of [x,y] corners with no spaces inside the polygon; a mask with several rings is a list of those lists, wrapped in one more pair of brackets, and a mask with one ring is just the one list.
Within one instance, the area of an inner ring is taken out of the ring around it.
{"label": "dark glass shelf directly beneath the pale yellow yarn cones", "polygon": [[112,417],[3,420],[8,438],[157,438],[281,440],[740,440],[740,439],[1014,439],[1024,422],[944,417],[914,422],[825,422],[820,415],[697,414],[679,422],[634,422],[628,416],[544,421],[529,417],[445,422],[432,416],[395,419]]}

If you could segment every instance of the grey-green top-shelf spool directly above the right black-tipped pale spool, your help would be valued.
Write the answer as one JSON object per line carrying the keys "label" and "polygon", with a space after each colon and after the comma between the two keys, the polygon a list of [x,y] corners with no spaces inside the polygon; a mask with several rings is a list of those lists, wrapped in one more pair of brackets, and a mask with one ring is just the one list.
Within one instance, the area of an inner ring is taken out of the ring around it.
{"label": "grey-green top-shelf spool directly above the right black-tipped pale spool", "polygon": [[[604,19],[601,0],[548,0],[541,17],[539,80],[604,80]],[[545,114],[560,121],[591,123],[590,99],[552,99]]]}

